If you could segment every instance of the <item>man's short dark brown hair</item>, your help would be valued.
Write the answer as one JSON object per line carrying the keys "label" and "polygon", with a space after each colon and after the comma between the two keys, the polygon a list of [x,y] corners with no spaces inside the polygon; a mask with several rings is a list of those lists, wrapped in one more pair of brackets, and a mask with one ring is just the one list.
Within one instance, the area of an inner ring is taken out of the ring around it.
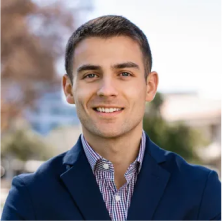
{"label": "man's short dark brown hair", "polygon": [[65,68],[72,81],[73,54],[77,44],[89,37],[109,38],[127,36],[135,40],[143,53],[145,77],[152,68],[152,54],[143,31],[128,19],[117,15],[106,15],[88,21],[73,32],[68,40],[65,54]]}

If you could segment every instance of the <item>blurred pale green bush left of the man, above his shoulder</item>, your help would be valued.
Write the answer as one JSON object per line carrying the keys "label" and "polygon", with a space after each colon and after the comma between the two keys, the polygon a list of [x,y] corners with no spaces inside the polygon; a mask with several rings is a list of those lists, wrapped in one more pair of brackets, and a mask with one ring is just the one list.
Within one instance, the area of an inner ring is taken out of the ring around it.
{"label": "blurred pale green bush left of the man, above his shoulder", "polygon": [[46,160],[53,156],[52,149],[29,130],[16,130],[0,140],[0,156],[12,156],[23,161]]}

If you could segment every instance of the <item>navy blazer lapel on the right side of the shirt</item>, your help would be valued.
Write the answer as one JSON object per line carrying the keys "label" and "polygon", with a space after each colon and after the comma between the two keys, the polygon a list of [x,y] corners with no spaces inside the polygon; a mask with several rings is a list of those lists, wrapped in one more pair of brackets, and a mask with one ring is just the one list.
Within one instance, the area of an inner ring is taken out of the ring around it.
{"label": "navy blazer lapel on the right side of the shirt", "polygon": [[147,136],[143,164],[137,177],[127,221],[152,220],[170,177],[170,173],[158,165],[164,161],[164,151]]}

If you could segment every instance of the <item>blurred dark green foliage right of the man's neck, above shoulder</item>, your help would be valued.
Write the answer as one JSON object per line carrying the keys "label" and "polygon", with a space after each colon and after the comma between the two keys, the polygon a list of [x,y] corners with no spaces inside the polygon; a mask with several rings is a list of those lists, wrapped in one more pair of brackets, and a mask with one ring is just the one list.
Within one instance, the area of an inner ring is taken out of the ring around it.
{"label": "blurred dark green foliage right of the man's neck, above shoulder", "polygon": [[151,140],[161,148],[178,153],[190,162],[199,162],[194,148],[202,143],[200,134],[183,123],[169,124],[160,115],[163,98],[157,94],[148,104],[143,127]]}

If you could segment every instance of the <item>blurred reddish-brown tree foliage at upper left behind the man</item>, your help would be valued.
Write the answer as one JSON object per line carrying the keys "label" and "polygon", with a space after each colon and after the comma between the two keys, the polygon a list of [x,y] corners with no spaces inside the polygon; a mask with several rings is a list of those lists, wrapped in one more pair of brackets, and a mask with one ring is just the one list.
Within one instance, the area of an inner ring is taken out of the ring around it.
{"label": "blurred reddish-brown tree foliage at upper left behind the man", "polygon": [[41,7],[0,0],[0,134],[42,93],[60,86],[55,66],[74,21],[61,1]]}

